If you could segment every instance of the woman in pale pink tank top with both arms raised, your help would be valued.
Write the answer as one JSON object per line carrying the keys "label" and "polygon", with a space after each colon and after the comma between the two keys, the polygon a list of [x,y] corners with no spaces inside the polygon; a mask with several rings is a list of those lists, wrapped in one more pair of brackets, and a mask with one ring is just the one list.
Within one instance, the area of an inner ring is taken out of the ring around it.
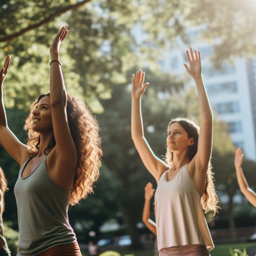
{"label": "woman in pale pink tank top with both arms raised", "polygon": [[141,96],[148,83],[140,70],[132,75],[132,140],[142,162],[154,176],[156,234],[160,256],[209,256],[214,248],[205,212],[218,210],[218,196],[213,184],[210,157],[212,152],[212,111],[202,80],[200,52],[190,54],[188,74],[198,92],[201,126],[187,118],[171,120],[167,127],[166,162],[157,158],[144,138]]}

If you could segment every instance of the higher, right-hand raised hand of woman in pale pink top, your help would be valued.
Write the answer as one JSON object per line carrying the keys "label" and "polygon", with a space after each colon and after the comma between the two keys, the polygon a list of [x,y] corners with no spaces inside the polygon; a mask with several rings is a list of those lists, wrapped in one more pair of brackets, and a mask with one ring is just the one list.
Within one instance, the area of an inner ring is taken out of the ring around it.
{"label": "higher, right-hand raised hand of woman in pale pink top", "polygon": [[[200,51],[195,49],[195,53],[193,52],[193,48],[190,47],[190,54],[189,51],[186,50],[187,57],[188,57],[188,64],[184,64],[188,74],[192,76],[192,78],[199,78],[202,74],[202,66],[201,66],[201,55]],[[190,56],[191,55],[191,56]]]}

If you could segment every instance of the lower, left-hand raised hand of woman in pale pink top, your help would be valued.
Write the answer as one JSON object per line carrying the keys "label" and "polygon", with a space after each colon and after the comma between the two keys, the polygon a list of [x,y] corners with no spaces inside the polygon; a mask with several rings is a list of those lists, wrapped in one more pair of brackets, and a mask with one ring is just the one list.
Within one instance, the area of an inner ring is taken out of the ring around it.
{"label": "lower, left-hand raised hand of woman in pale pink top", "polygon": [[136,76],[132,74],[132,98],[140,98],[149,83],[144,84],[145,72],[139,70]]}

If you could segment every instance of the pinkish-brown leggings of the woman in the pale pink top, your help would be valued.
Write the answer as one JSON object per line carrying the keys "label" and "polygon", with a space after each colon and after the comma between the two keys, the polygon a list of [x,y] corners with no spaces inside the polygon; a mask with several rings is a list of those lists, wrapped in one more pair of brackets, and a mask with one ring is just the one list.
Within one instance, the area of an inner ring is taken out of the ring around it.
{"label": "pinkish-brown leggings of the woman in the pale pink top", "polygon": [[204,244],[172,246],[160,250],[159,256],[210,256]]}

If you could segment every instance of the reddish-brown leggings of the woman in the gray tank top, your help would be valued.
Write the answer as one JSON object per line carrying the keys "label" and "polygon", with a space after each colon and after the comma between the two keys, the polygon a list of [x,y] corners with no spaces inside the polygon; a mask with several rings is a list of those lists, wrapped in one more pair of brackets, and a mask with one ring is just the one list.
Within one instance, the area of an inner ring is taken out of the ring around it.
{"label": "reddish-brown leggings of the woman in the gray tank top", "polygon": [[78,243],[54,246],[37,256],[82,256]]}

